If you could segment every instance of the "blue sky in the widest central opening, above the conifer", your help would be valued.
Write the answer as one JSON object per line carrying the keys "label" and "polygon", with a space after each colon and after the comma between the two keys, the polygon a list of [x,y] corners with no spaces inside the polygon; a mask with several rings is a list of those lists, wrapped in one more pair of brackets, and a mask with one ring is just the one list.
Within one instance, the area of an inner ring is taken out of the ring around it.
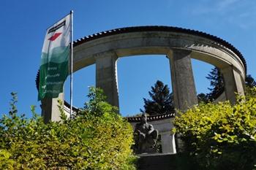
{"label": "blue sky in the widest central opening, above the conifer", "polygon": [[136,55],[118,58],[119,109],[123,116],[137,115],[144,109],[143,98],[150,98],[151,86],[161,80],[172,91],[170,63],[165,55]]}

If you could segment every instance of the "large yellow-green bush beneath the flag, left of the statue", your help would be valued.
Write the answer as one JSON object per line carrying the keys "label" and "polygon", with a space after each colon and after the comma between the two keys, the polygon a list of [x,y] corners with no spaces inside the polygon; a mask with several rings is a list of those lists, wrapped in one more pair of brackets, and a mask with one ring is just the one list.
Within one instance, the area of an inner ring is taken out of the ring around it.
{"label": "large yellow-green bush beneath the flag, left of the statue", "polygon": [[[132,127],[91,88],[89,103],[68,120],[43,123],[17,115],[0,120],[0,169],[135,169]],[[32,108],[34,110],[34,108]],[[62,111],[63,112],[63,111]]]}

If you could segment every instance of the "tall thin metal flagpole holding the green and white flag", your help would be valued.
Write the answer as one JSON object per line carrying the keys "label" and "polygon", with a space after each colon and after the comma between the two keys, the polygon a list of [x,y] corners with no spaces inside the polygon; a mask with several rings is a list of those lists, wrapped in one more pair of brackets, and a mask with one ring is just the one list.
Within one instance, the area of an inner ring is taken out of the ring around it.
{"label": "tall thin metal flagpole holding the green and white flag", "polygon": [[70,11],[70,119],[73,107],[73,11]]}

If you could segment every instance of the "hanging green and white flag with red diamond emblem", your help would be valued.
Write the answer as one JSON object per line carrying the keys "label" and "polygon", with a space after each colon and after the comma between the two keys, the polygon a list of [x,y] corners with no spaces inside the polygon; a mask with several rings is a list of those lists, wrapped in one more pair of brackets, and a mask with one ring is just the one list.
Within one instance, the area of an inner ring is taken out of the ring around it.
{"label": "hanging green and white flag with red diamond emblem", "polygon": [[71,15],[47,29],[39,72],[39,100],[57,98],[69,74]]}

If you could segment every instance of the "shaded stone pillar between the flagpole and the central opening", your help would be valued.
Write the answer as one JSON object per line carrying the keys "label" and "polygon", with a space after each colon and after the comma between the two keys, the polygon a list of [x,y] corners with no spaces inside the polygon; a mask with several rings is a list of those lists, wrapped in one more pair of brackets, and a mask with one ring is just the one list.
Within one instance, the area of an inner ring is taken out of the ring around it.
{"label": "shaded stone pillar between the flagpole and the central opening", "polygon": [[96,60],[96,87],[102,88],[108,103],[119,107],[118,84],[116,69],[116,53],[109,52],[99,55]]}

